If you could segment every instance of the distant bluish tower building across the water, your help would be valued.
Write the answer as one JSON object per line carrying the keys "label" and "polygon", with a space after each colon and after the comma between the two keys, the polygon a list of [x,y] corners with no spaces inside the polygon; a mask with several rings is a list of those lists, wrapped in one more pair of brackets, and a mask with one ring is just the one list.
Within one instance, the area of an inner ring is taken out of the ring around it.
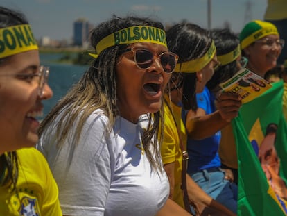
{"label": "distant bluish tower building across the water", "polygon": [[79,18],[73,22],[73,44],[86,47],[89,44],[89,31],[91,28],[92,25],[85,18]]}

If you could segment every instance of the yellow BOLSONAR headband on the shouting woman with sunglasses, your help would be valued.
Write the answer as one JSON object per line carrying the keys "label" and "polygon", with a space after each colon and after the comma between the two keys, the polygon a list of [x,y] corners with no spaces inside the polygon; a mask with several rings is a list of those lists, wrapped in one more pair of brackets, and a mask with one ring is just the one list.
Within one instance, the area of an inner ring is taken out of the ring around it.
{"label": "yellow BOLSONAR headband on the shouting woman with sunglasses", "polygon": [[163,29],[152,26],[132,26],[107,35],[96,45],[96,54],[90,53],[90,55],[97,58],[101,51],[108,47],[137,42],[151,42],[167,47],[166,33]]}

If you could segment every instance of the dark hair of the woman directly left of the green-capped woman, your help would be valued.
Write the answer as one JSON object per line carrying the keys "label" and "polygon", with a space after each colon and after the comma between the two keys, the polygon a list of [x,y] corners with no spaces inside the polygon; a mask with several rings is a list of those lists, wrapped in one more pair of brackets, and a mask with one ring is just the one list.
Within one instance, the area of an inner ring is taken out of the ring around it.
{"label": "dark hair of the woman directly left of the green-capped woman", "polygon": [[[232,33],[228,28],[215,28],[211,30],[211,35],[216,45],[217,56],[222,56],[233,51],[239,44],[238,35]],[[214,90],[220,83],[232,78],[237,71],[236,60],[227,65],[221,65],[207,82],[207,88],[211,91]]]}

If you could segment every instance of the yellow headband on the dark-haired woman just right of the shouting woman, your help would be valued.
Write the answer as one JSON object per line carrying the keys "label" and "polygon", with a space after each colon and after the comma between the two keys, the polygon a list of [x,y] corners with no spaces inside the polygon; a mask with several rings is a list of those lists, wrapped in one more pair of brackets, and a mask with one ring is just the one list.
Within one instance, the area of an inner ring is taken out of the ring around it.
{"label": "yellow headband on the dark-haired woman just right of the shouting woman", "polygon": [[183,72],[183,73],[195,73],[199,72],[203,67],[205,67],[216,53],[216,46],[214,44],[214,40],[211,42],[211,46],[205,53],[205,56],[201,58],[197,58],[194,60],[190,60],[184,63],[177,63],[175,66],[175,72]]}

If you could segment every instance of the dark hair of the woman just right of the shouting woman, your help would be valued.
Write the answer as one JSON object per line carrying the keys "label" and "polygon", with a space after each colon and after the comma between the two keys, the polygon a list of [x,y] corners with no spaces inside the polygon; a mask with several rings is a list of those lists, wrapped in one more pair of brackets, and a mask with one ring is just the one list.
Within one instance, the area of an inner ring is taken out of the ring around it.
{"label": "dark hair of the woman just right of the shouting woman", "polygon": [[[192,23],[182,22],[166,31],[168,49],[179,56],[177,63],[200,58],[211,46],[211,33]],[[175,74],[177,72],[174,72]],[[175,76],[175,75],[172,75]],[[196,73],[182,73],[182,105],[186,110],[196,110]]]}

